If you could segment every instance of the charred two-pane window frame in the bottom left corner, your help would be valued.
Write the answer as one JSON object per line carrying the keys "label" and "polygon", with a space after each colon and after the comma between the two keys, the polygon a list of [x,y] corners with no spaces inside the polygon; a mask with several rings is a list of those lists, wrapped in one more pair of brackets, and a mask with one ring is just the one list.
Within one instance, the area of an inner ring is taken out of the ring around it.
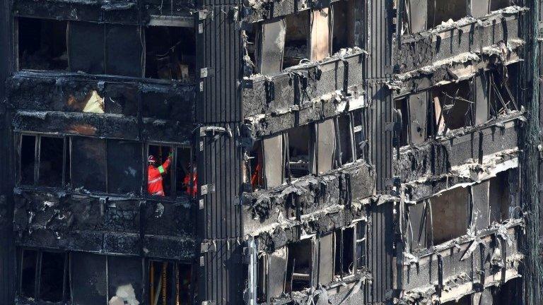
{"label": "charred two-pane window frame in the bottom left corner", "polygon": [[[22,297],[26,301],[29,301],[30,304],[36,304],[38,302],[47,302],[47,304],[66,304],[66,302],[71,301],[71,274],[70,274],[70,253],[68,251],[55,251],[51,249],[32,249],[28,247],[21,247],[17,249],[18,261],[17,261],[17,294],[19,297]],[[24,253],[25,251],[34,251],[36,253],[36,262],[35,262],[35,275],[34,275],[34,297],[28,297],[23,295],[23,265],[24,265]],[[64,273],[63,273],[63,282],[62,282],[62,301],[43,301],[41,299],[41,275],[42,275],[42,258],[43,253],[55,253],[64,255]]]}

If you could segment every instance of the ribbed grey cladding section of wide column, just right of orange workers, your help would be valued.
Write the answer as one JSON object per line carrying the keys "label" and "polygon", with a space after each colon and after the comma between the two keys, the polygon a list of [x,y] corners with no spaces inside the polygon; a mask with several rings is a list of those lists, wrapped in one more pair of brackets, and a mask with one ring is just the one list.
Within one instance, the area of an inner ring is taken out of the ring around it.
{"label": "ribbed grey cladding section of wide column, just right of orange workers", "polygon": [[[233,125],[230,128],[235,128]],[[234,130],[234,129],[233,129]],[[202,238],[239,237],[241,217],[239,193],[241,186],[241,149],[233,137],[226,134],[214,139],[201,138],[204,150],[199,157],[199,184],[213,185],[215,191],[204,195]]]}

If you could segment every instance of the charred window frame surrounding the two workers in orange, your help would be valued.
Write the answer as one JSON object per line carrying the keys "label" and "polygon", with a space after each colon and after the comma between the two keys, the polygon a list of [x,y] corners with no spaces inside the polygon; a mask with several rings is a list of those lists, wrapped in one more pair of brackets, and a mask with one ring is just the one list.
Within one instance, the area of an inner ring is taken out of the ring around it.
{"label": "charred window frame surrounding the two workers in orange", "polygon": [[[150,193],[148,193],[147,191],[147,181],[148,181],[148,161],[147,161],[147,158],[149,156],[149,146],[161,146],[161,147],[168,147],[168,148],[172,148],[173,150],[173,157],[172,157],[172,163],[170,165],[170,195],[166,195],[166,191],[164,192],[165,193],[165,196],[154,196],[154,195],[151,195]],[[189,198],[189,199],[194,199],[194,198],[197,198],[199,196],[199,187],[197,189],[197,193],[194,194],[194,196],[189,196],[188,194],[184,193],[184,192],[181,192],[181,193],[178,193],[177,192],[177,150],[179,148],[187,148],[190,150],[190,162],[192,164],[192,167],[189,169],[190,171],[190,175],[191,175],[191,178],[190,178],[190,184],[189,184],[189,187],[192,188],[192,181],[194,180],[194,177],[192,176],[194,174],[194,166],[197,167],[197,160],[196,160],[196,154],[194,153],[194,148],[192,147],[192,144],[189,144],[189,143],[170,143],[170,142],[156,142],[156,141],[148,141],[146,143],[144,143],[144,186],[142,188],[142,191],[141,193],[144,195],[144,197],[148,198],[148,199],[152,199],[152,200],[161,200],[161,199],[166,199],[166,200],[175,200],[177,198]],[[197,172],[196,174],[198,175],[198,169],[197,169]],[[183,179],[184,177],[181,177],[180,179]],[[197,180],[197,183],[198,183],[198,180]]]}

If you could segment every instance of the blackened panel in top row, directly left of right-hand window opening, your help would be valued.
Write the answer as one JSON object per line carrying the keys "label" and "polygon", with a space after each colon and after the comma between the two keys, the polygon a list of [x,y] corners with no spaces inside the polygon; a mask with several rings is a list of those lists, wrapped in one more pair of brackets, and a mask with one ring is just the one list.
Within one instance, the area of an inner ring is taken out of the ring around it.
{"label": "blackened panel in top row, directly left of right-hand window opening", "polygon": [[143,49],[139,27],[134,25],[106,25],[105,73],[141,77]]}

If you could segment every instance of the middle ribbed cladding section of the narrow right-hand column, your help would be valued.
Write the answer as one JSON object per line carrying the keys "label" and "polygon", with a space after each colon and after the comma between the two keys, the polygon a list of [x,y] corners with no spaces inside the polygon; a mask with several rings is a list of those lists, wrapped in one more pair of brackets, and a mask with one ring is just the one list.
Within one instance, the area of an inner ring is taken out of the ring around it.
{"label": "middle ribbed cladding section of the narrow right-hand column", "polygon": [[377,191],[383,193],[392,178],[392,94],[383,83],[368,83],[370,102],[370,162],[377,172]]}

